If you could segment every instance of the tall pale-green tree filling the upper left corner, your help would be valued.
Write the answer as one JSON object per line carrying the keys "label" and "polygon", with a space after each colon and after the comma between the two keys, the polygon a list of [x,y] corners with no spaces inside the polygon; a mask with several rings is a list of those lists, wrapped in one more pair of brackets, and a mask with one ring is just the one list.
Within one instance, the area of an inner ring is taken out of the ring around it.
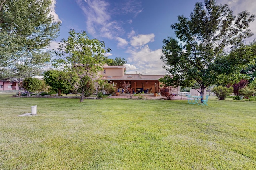
{"label": "tall pale-green tree filling the upper left corner", "polygon": [[0,0],[0,80],[40,75],[58,36],[52,0]]}

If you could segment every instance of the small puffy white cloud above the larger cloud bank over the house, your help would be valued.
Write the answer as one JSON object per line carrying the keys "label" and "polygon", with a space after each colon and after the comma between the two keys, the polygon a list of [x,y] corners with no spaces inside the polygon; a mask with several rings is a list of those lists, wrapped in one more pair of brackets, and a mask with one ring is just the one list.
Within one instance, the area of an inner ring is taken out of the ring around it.
{"label": "small puffy white cloud above the larger cloud bank over the house", "polygon": [[130,43],[133,47],[138,47],[138,46],[145,45],[149,42],[153,42],[154,37],[155,37],[154,34],[140,34],[135,37],[132,37]]}

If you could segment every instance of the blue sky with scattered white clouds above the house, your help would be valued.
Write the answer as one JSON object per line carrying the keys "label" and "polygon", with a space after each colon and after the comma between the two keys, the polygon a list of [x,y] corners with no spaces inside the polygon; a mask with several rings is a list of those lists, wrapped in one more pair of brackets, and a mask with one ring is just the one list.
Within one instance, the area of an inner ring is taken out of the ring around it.
{"label": "blue sky with scattered white clouds above the house", "polygon": [[[196,2],[203,0],[53,0],[52,14],[61,21],[60,37],[50,49],[68,37],[68,31],[86,31],[88,36],[104,41],[112,49],[108,56],[127,60],[126,74],[165,74],[160,60],[162,41],[175,37],[171,24],[178,15],[189,17]],[[256,14],[255,0],[216,0],[228,4],[234,14],[248,10]],[[250,29],[256,38],[256,21]]]}

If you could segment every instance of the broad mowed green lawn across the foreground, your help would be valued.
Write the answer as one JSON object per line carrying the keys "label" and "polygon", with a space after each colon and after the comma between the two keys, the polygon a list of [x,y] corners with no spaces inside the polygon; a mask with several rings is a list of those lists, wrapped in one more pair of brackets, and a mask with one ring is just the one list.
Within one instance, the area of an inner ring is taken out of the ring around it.
{"label": "broad mowed green lawn across the foreground", "polygon": [[186,102],[0,94],[0,169],[256,169],[256,103]]}

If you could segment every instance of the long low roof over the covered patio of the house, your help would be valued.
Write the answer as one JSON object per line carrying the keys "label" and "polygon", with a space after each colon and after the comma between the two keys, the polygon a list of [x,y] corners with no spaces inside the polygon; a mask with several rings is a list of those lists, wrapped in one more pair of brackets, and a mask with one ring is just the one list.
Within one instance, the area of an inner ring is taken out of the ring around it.
{"label": "long low roof over the covered patio of the house", "polygon": [[165,75],[142,75],[142,74],[125,74],[124,76],[104,76],[102,80],[158,80]]}

